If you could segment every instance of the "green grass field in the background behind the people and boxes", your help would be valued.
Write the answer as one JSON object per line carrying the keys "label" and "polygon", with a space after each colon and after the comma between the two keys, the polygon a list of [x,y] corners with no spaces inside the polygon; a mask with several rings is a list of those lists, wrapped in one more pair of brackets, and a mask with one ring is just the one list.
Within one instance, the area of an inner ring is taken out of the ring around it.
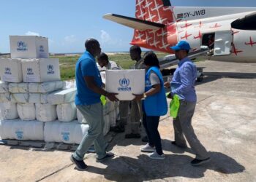
{"label": "green grass field in the background behind the people and boxes", "polygon": [[[158,58],[162,58],[166,53],[156,52]],[[61,67],[61,79],[62,80],[70,80],[75,79],[75,63],[77,62],[79,55],[74,56],[51,56],[50,58],[59,58],[59,63]],[[129,69],[135,61],[132,61],[129,57],[129,54],[121,53],[121,54],[110,54],[108,55],[109,60],[113,60],[118,63],[124,69]],[[200,60],[200,59],[198,59]],[[198,61],[197,60],[197,61]]]}

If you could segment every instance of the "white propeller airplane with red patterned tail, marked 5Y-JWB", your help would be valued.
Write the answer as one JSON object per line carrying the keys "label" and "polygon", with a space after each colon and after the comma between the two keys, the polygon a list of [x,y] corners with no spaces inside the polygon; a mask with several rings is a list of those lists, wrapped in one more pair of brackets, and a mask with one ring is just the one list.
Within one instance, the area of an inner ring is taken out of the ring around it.
{"label": "white propeller airplane with red patterned tail, marked 5Y-JWB", "polygon": [[136,0],[135,18],[103,17],[134,28],[132,45],[174,54],[170,47],[185,40],[193,55],[208,47],[211,37],[214,60],[256,63],[256,7],[173,7],[169,0]]}

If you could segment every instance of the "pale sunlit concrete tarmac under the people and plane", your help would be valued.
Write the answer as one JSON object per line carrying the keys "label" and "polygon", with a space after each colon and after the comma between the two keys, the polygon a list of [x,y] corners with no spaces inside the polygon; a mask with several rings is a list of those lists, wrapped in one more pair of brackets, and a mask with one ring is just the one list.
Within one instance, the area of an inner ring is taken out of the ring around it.
{"label": "pale sunlit concrete tarmac under the people and plane", "polygon": [[192,125],[211,162],[190,165],[193,151],[170,143],[173,124],[167,114],[159,124],[165,160],[149,159],[140,152],[146,143],[124,139],[124,133],[109,134],[113,159],[97,163],[95,154],[88,154],[83,172],[70,162],[72,151],[1,145],[0,181],[256,181],[256,63],[206,60],[197,66],[205,67],[205,76],[196,85]]}

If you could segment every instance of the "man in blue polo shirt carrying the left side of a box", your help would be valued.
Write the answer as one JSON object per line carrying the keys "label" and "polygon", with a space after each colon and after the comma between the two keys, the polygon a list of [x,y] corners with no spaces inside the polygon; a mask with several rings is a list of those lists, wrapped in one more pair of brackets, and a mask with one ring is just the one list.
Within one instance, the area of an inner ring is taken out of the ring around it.
{"label": "man in blue polo shirt carrying the left side of a box", "polygon": [[105,151],[103,108],[100,95],[105,95],[111,101],[118,100],[116,94],[102,89],[102,79],[94,59],[101,52],[99,42],[96,39],[87,39],[85,46],[86,52],[78,59],[75,67],[77,84],[75,105],[89,124],[88,133],[83,136],[78,149],[70,157],[78,170],[87,168],[87,165],[83,162],[83,157],[93,143],[97,154],[97,162],[113,157],[112,153],[106,153]]}

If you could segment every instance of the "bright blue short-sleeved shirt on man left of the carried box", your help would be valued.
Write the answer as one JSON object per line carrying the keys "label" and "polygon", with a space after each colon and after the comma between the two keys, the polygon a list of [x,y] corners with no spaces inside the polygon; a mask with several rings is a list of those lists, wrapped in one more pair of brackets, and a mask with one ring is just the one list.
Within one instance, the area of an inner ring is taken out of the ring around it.
{"label": "bright blue short-sleeved shirt on man left of the carried box", "polygon": [[102,87],[102,79],[97,68],[94,57],[89,52],[78,59],[75,66],[75,81],[77,85],[77,93],[75,95],[76,105],[91,105],[100,102],[100,95],[93,92],[87,87],[84,76],[94,77],[94,82],[97,87]]}

